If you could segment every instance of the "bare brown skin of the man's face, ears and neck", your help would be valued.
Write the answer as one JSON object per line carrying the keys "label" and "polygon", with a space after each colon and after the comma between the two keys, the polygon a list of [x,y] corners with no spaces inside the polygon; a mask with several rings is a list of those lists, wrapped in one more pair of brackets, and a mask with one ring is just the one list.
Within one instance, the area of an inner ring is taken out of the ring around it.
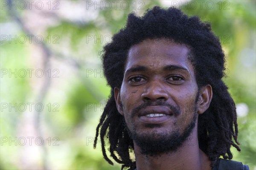
{"label": "bare brown skin of the man's face, ears and neck", "polygon": [[[117,109],[125,117],[129,130],[152,138],[175,130],[183,133],[193,114],[198,117],[207,110],[212,88],[206,85],[198,89],[188,55],[186,45],[164,39],[144,40],[130,48],[122,86],[114,89]],[[179,108],[180,114],[173,114],[166,106],[152,105],[131,115],[143,102],[158,100]],[[187,141],[175,152],[143,155],[134,142],[137,170],[211,170],[211,162],[199,149],[198,142],[187,144],[189,139],[198,139],[197,122]]]}

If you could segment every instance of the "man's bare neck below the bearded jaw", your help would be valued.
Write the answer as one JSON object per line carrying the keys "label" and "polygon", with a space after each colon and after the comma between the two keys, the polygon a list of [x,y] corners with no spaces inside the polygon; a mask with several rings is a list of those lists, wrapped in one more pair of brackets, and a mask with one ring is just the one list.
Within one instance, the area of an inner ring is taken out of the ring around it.
{"label": "man's bare neck below the bearded jaw", "polygon": [[211,162],[199,149],[197,130],[175,152],[157,156],[142,155],[136,143],[134,150],[137,170],[211,170]]}

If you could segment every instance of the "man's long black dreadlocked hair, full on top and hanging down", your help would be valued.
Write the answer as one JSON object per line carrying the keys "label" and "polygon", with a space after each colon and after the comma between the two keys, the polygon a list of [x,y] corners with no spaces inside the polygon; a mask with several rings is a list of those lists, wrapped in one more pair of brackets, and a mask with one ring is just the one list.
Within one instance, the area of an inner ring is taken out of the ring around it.
{"label": "man's long black dreadlocked hair, full on top and hanging down", "polygon": [[113,89],[122,85],[128,50],[146,39],[168,39],[189,47],[189,59],[195,70],[198,88],[209,84],[213,92],[209,108],[198,116],[199,147],[212,161],[212,166],[220,156],[232,159],[231,145],[240,151],[236,106],[221,80],[225,58],[220,41],[212,33],[209,23],[201,22],[198,17],[188,17],[173,7],[163,9],[155,6],[143,17],[129,14],[125,28],[113,35],[112,42],[105,45],[102,62],[111,94],[96,128],[94,147],[100,132],[102,153],[108,163],[113,164],[106,154],[105,140],[110,144],[111,157],[122,164],[122,169],[136,167],[129,154],[134,150],[133,141],[125,129],[123,116],[116,109]]}

